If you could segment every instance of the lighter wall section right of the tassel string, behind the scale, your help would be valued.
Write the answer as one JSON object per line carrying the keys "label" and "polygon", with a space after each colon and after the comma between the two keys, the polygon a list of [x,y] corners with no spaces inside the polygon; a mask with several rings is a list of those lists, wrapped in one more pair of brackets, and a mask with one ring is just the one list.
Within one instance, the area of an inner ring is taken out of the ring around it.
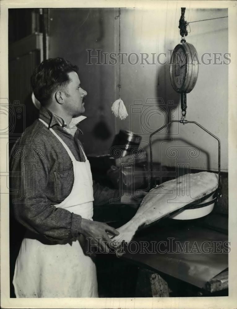
{"label": "lighter wall section right of the tassel string, behind the scale", "polygon": [[[188,21],[195,21],[226,15],[227,10],[187,9],[185,16]],[[151,53],[168,53],[167,58],[160,57],[160,62],[169,61],[168,50],[172,50],[181,39],[177,27],[179,17],[180,9],[173,10],[169,7],[159,11],[122,10],[122,50],[128,53],[148,53],[150,63],[152,62]],[[191,23],[191,33],[187,36],[187,42],[194,44],[199,57],[208,52],[212,54],[213,60],[213,53],[228,52],[227,25],[227,18]],[[127,107],[134,105],[134,101],[142,101],[143,108],[139,107],[141,112],[137,112],[136,104],[134,111],[137,113],[130,111],[130,119],[125,122],[116,121],[116,127],[125,127],[126,129],[130,127],[132,131],[142,133],[145,146],[149,133],[168,121],[169,117],[165,111],[168,110],[170,116],[174,116],[170,119],[180,119],[180,95],[171,86],[168,64],[149,65],[145,63],[136,66],[128,64],[122,67],[122,79],[122,96]],[[127,83],[128,80],[129,83]],[[162,98],[164,102],[159,103],[159,99],[154,99],[156,97]],[[169,105],[169,100],[173,100],[173,104]],[[196,86],[190,94],[187,94],[187,106],[187,120],[199,122],[200,125],[220,138],[221,166],[222,170],[227,170],[228,66],[200,64]],[[173,110],[174,112],[172,112]],[[161,139],[162,142],[157,137],[158,135],[153,139],[155,160],[173,166],[175,158],[171,159],[171,156],[167,156],[168,147],[175,146],[178,147],[178,151],[185,150],[183,155],[187,157],[187,149],[195,146],[200,150],[200,155],[191,160],[191,166],[217,169],[217,141],[197,126],[172,124],[166,134],[159,134],[159,138],[164,137]],[[165,142],[168,138],[173,138],[173,142]],[[185,158],[183,155],[182,157]]]}

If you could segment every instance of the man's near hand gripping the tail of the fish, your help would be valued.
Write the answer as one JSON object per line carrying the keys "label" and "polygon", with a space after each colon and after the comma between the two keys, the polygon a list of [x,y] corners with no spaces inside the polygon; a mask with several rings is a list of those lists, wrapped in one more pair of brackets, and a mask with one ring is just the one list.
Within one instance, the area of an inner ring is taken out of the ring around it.
{"label": "man's near hand gripping the tail of the fish", "polygon": [[107,232],[111,235],[119,235],[119,232],[115,228],[109,226],[106,223],[81,219],[81,227],[79,233],[85,238],[91,239],[92,245],[97,245],[100,252],[109,252],[111,239]]}

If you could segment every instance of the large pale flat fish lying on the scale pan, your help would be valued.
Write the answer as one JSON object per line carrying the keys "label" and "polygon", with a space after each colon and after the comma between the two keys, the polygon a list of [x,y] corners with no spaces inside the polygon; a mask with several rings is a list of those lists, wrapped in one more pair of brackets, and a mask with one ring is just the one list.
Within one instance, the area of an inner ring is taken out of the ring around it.
{"label": "large pale flat fish lying on the scale pan", "polygon": [[185,205],[201,199],[218,188],[218,175],[210,172],[186,174],[153,188],[144,197],[134,217],[117,228],[119,235],[112,238],[116,243],[116,255],[121,256],[122,243],[129,243],[136,231]]}

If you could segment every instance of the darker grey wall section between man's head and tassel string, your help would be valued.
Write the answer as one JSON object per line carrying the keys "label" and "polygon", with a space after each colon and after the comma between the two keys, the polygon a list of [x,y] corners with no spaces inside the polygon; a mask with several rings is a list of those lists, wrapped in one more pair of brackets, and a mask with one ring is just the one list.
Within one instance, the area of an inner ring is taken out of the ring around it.
{"label": "darker grey wall section between man's head and tassel string", "polygon": [[[114,51],[115,10],[50,9],[50,57],[63,57],[79,66],[81,86],[88,93],[81,136],[87,154],[106,154],[115,135],[110,112],[115,100],[115,66],[86,65],[86,49]],[[93,52],[94,53],[94,52]]]}

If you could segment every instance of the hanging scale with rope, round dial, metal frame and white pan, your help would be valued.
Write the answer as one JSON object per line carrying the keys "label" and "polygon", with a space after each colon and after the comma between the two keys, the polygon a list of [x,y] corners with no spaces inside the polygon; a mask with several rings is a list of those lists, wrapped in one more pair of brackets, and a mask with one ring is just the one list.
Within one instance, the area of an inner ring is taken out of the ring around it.
{"label": "hanging scale with rope, round dial, metal frame and white pan", "polygon": [[150,172],[152,176],[152,146],[151,146],[151,138],[154,134],[161,131],[168,125],[173,122],[180,122],[183,125],[187,123],[193,123],[199,126],[206,133],[211,135],[218,141],[218,188],[215,192],[210,195],[206,195],[199,201],[194,201],[185,207],[179,209],[173,214],[169,214],[169,218],[173,219],[195,219],[200,218],[213,210],[214,203],[218,200],[219,197],[222,196],[221,192],[221,142],[219,138],[217,138],[214,134],[209,132],[203,126],[201,126],[196,121],[187,121],[186,119],[186,109],[187,109],[187,98],[186,94],[191,92],[195,87],[198,78],[198,55],[195,47],[187,43],[185,40],[185,36],[188,35],[187,32],[187,21],[185,21],[185,7],[181,8],[181,16],[179,20],[179,29],[180,35],[182,37],[181,43],[179,43],[173,50],[171,56],[170,63],[170,81],[173,89],[181,94],[181,109],[182,109],[182,118],[181,120],[172,120],[166,125],[162,126],[160,129],[157,129],[150,135]]}

